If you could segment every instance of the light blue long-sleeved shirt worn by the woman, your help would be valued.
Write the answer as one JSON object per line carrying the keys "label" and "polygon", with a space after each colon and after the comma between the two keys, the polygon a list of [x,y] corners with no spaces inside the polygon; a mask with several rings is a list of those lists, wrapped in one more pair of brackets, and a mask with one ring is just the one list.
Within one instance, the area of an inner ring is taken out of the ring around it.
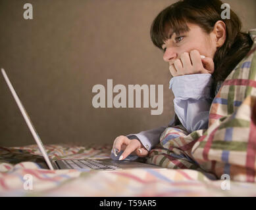
{"label": "light blue long-sleeved shirt worn by the woman", "polygon": [[[213,98],[211,97],[211,88],[213,78],[211,74],[190,74],[172,77],[170,87],[174,93],[174,112],[188,133],[200,129],[207,129],[209,110]],[[167,126],[158,127],[148,131],[141,131],[137,134],[131,134],[127,137],[136,138],[149,151],[159,143],[161,134],[166,127],[171,127],[175,121],[172,117]],[[118,160],[122,155],[121,151],[118,156],[111,152],[111,158]],[[128,156],[124,160],[135,160],[138,156]]]}

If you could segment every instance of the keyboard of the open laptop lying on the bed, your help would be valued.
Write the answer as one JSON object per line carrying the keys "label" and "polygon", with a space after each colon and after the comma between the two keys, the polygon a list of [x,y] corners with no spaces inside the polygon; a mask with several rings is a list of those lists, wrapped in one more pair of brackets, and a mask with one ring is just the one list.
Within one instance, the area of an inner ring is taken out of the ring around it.
{"label": "keyboard of the open laptop lying on the bed", "polygon": [[120,169],[120,167],[108,165],[95,159],[63,159],[62,161],[69,169]]}

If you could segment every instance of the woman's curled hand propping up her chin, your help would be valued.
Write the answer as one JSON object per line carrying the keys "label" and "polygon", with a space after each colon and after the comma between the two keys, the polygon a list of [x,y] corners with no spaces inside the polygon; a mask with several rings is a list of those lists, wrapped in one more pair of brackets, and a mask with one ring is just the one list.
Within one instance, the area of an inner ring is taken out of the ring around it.
{"label": "woman's curled hand propping up her chin", "polygon": [[176,59],[169,67],[173,77],[187,74],[213,74],[215,64],[213,58],[201,58],[199,51],[182,53],[180,59]]}

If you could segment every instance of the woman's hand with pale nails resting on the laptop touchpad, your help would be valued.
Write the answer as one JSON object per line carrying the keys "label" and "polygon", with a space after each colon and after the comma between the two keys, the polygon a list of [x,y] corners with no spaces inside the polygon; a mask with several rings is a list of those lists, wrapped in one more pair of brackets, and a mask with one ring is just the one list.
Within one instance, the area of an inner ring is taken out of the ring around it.
{"label": "woman's hand with pale nails resting on the laptop touchpad", "polygon": [[143,146],[143,144],[141,144],[140,140],[129,139],[125,136],[116,137],[112,148],[115,156],[117,156],[116,149],[118,150],[118,153],[120,151],[124,151],[122,153],[122,156],[120,156],[119,160],[125,159],[130,154],[139,156],[141,158],[145,158],[147,157],[147,154],[149,154],[147,149]]}

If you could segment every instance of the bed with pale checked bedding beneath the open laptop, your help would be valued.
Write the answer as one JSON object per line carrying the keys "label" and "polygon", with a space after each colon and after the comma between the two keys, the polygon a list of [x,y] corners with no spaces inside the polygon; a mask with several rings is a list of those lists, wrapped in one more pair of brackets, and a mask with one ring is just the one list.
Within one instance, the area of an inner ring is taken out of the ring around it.
{"label": "bed with pale checked bedding beneath the open laptop", "polygon": [[[53,159],[109,158],[112,145],[46,145]],[[256,196],[256,184],[210,180],[191,169],[43,169],[37,145],[0,147],[0,196]],[[30,178],[30,180],[28,179]]]}

